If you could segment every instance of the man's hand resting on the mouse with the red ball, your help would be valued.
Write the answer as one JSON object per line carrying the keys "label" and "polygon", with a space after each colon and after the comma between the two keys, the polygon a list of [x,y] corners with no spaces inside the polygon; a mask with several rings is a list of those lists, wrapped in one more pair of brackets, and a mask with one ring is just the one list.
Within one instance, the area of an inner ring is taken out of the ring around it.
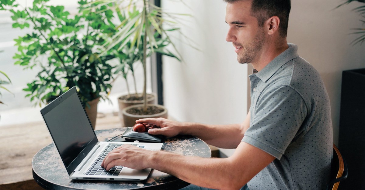
{"label": "man's hand resting on the mouse with the red ball", "polygon": [[138,119],[136,123],[143,123],[149,128],[148,133],[151,135],[164,135],[173,137],[180,134],[181,122],[168,120],[165,118],[145,118]]}

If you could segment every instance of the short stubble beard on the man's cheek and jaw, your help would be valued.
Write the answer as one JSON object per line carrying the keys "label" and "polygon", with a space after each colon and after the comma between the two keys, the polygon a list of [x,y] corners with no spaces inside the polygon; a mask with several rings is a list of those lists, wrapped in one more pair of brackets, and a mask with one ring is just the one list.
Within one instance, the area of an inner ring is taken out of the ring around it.
{"label": "short stubble beard on the man's cheek and jaw", "polygon": [[255,39],[251,43],[247,44],[244,48],[243,54],[237,54],[238,63],[252,63],[258,52],[261,51],[264,45],[264,31],[258,31]]}

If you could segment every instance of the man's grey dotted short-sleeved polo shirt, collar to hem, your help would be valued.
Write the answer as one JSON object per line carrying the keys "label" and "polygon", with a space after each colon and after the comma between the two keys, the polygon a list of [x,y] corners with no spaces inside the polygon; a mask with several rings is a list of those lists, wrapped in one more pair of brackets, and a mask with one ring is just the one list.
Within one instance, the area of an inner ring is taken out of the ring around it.
{"label": "man's grey dotted short-sleeved polo shirt, collar to hem", "polygon": [[250,190],[325,189],[333,155],[330,101],[319,73],[297,45],[251,80],[250,127],[242,141],[276,159],[252,178]]}

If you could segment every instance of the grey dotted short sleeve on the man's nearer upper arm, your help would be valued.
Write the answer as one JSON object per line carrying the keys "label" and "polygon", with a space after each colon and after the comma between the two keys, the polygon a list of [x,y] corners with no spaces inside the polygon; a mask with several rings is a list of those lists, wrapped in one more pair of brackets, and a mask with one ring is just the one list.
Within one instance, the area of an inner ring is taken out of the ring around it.
{"label": "grey dotted short sleeve on the man's nearer upper arm", "polygon": [[302,127],[306,104],[293,88],[279,86],[263,91],[254,106],[242,141],[280,159]]}

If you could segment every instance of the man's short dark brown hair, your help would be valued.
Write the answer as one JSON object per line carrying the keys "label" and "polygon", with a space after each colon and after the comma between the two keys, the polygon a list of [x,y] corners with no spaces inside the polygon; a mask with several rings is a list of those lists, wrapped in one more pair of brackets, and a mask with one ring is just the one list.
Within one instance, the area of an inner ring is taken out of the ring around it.
{"label": "man's short dark brown hair", "polygon": [[[234,3],[241,0],[223,0],[226,3]],[[288,31],[289,13],[291,0],[252,0],[251,15],[254,16],[258,25],[262,27],[266,20],[272,16],[280,19],[280,36],[286,37]]]}

